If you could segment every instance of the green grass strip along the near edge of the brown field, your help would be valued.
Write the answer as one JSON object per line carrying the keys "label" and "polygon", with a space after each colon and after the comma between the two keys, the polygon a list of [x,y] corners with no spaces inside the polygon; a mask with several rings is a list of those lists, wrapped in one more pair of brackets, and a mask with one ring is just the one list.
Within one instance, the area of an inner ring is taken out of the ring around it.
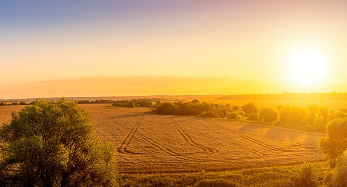
{"label": "green grass strip along the near edge of the brown field", "polygon": [[[326,162],[310,164],[316,186],[323,185]],[[244,169],[224,172],[174,173],[174,174],[120,174],[120,187],[192,187],[201,180],[227,180],[244,187],[291,187],[300,176],[304,164]],[[294,185],[297,186],[297,185]],[[301,186],[301,185],[300,185]]]}

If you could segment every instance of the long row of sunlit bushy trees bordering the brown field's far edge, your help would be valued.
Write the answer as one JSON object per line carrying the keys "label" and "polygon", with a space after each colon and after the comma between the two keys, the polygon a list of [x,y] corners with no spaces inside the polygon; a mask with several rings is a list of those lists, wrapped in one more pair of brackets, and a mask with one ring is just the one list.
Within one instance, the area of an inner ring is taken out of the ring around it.
{"label": "long row of sunlit bushy trees bordering the brown field's far edge", "polygon": [[280,105],[277,108],[264,107],[259,110],[253,103],[239,108],[237,106],[231,107],[230,104],[200,103],[198,100],[164,102],[159,104],[154,112],[161,115],[225,118],[245,123],[266,122],[282,127],[319,132],[325,132],[329,121],[347,117],[347,109],[345,108],[334,112],[329,111],[326,107],[316,105],[306,108]]}

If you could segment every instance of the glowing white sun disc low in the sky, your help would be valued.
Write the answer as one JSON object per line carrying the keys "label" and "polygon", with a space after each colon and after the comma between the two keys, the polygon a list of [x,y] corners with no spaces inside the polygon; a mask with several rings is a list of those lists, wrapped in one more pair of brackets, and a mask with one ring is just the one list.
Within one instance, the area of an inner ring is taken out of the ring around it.
{"label": "glowing white sun disc low in the sky", "polygon": [[299,84],[320,83],[325,74],[325,58],[314,49],[297,50],[290,59],[290,80]]}

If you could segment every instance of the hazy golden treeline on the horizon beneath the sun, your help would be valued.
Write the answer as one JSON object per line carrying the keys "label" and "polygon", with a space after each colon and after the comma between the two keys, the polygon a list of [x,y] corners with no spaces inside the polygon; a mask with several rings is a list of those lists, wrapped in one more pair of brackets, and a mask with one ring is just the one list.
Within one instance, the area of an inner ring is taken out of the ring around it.
{"label": "hazy golden treeline on the horizon beneath the sun", "polygon": [[328,100],[347,101],[347,93],[281,93],[281,94],[242,94],[219,97],[220,100]]}

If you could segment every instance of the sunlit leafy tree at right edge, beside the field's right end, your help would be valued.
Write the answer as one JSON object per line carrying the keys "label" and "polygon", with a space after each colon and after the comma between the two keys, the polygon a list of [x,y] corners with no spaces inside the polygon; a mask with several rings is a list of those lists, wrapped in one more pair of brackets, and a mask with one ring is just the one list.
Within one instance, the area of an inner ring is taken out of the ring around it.
{"label": "sunlit leafy tree at right edge, beside the field's right end", "polygon": [[318,148],[327,154],[331,167],[334,167],[338,156],[347,148],[347,118],[328,122],[327,136],[320,139]]}

